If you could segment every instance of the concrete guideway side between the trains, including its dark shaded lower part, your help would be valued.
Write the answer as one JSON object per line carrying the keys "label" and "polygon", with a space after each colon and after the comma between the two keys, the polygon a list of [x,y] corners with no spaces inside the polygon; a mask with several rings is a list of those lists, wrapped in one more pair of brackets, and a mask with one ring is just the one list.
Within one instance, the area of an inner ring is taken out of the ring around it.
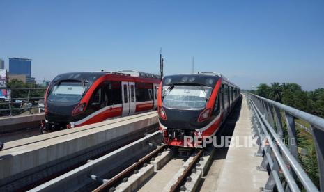
{"label": "concrete guideway side between the trains, including its dark shaded lower part", "polygon": [[5,143],[0,151],[0,191],[22,189],[130,143],[152,128],[157,130],[156,111]]}

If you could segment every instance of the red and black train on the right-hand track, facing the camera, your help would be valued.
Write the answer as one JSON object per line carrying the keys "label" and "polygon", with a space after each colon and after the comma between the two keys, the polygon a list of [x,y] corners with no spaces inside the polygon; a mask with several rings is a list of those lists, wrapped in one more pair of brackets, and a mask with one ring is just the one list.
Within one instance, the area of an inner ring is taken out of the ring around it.
{"label": "red and black train on the right-hand track, facing the camera", "polygon": [[[240,88],[220,74],[203,72],[164,77],[157,94],[164,143],[200,147],[195,138],[214,136],[239,97]],[[188,141],[188,138],[192,139]]]}

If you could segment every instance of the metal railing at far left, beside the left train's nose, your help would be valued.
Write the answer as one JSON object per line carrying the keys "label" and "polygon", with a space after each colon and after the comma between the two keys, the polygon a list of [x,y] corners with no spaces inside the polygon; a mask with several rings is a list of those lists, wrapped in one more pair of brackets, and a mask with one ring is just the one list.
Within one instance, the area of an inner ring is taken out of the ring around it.
{"label": "metal railing at far left, beside the left train's nose", "polygon": [[[46,88],[0,88],[0,90],[6,90],[8,95],[0,100],[0,113],[8,111],[7,114],[12,116],[17,112],[24,111],[29,111],[29,114],[32,114],[31,109],[38,109],[38,113],[44,111]],[[42,95],[42,97],[36,97],[38,95]]]}

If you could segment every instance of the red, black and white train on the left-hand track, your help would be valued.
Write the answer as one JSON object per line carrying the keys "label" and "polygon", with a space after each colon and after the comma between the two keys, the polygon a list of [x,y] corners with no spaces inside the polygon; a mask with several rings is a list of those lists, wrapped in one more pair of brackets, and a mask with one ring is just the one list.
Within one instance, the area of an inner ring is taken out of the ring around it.
{"label": "red, black and white train on the left-hand track", "polygon": [[41,133],[157,109],[160,76],[136,71],[59,74],[45,93]]}

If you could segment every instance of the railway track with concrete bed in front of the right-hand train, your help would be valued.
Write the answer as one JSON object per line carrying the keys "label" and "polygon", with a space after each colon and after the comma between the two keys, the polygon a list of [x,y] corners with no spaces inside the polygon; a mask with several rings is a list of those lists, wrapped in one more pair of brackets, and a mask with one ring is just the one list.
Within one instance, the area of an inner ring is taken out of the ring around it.
{"label": "railway track with concrete bed in front of the right-hand train", "polygon": [[[152,191],[159,189],[156,187],[154,177],[165,169],[171,168],[173,174],[164,181],[165,187],[162,191],[195,191],[199,186],[201,177],[206,175],[208,166],[214,150],[200,149],[194,150],[190,157],[180,156],[176,150],[167,148],[167,145],[160,145],[155,150],[139,159],[137,163],[132,164],[125,170],[112,177],[111,179],[101,179],[102,184],[93,192],[99,191]],[[181,162],[180,165],[178,161]],[[178,164],[178,172],[174,169]],[[161,173],[160,175],[164,175]],[[151,181],[152,180],[152,181]],[[147,185],[151,185],[147,187]],[[162,186],[163,186],[162,185]],[[146,186],[146,189],[145,189]]]}

